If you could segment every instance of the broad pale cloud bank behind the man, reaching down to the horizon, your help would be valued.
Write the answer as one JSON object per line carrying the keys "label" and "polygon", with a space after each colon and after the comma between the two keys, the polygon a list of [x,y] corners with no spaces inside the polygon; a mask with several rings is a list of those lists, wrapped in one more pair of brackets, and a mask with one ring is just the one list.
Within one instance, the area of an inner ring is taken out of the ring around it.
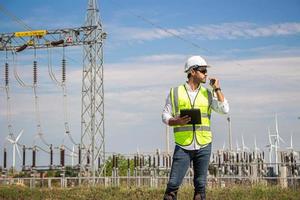
{"label": "broad pale cloud bank behind the man, reaching down to the horizon", "polygon": [[[104,64],[106,134],[114,141],[108,142],[111,145],[108,149],[115,150],[118,146],[118,150],[132,151],[135,147],[131,145],[132,140],[128,139],[132,135],[137,137],[135,142],[139,144],[143,144],[145,137],[161,137],[164,131],[161,111],[169,88],[183,83],[186,79],[182,70],[185,58],[186,55],[180,54],[149,55],[128,58],[126,62]],[[264,136],[266,126],[273,122],[275,112],[281,116],[281,129],[296,130],[294,124],[289,124],[292,122],[288,117],[300,112],[297,110],[300,94],[296,91],[300,88],[299,57],[208,60],[214,66],[209,70],[209,75],[220,78],[222,89],[229,100],[235,138],[240,137],[241,127],[245,133],[252,134],[255,131],[261,138],[266,138],[267,136]],[[81,73],[81,69],[68,71],[71,128],[76,127],[73,130],[78,138]],[[72,86],[73,84],[75,86]],[[43,87],[42,84],[40,103],[43,128],[46,136],[53,133],[53,137],[59,138],[63,130],[62,94],[58,88],[56,92],[53,90],[47,94]],[[4,127],[6,108],[4,93],[1,94],[1,126]],[[12,98],[13,120],[20,127],[16,130],[26,127],[26,131],[30,132],[30,129],[35,127],[32,91],[27,90],[27,94],[24,94],[24,91],[22,94],[14,94]],[[31,122],[22,120],[24,116],[31,119]],[[224,132],[226,120],[220,116],[214,117],[213,121],[217,141],[224,141],[226,136],[220,133]],[[256,130],[253,130],[253,126],[257,126]],[[3,134],[1,138],[4,138]],[[289,131],[282,133],[282,137],[288,138],[288,134]],[[118,140],[115,140],[116,137]],[[216,144],[223,145],[217,142]],[[161,144],[148,145],[149,149],[154,149]]]}

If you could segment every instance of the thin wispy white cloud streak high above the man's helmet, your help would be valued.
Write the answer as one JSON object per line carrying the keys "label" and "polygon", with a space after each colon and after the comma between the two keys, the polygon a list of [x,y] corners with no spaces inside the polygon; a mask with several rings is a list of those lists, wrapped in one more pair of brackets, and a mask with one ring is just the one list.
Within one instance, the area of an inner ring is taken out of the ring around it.
{"label": "thin wispy white cloud streak high above the man's helmet", "polygon": [[300,23],[286,22],[279,24],[255,24],[248,22],[233,22],[223,24],[195,25],[184,28],[136,28],[114,27],[108,30],[119,40],[151,41],[176,36],[193,37],[196,39],[239,39],[296,35],[300,33]]}

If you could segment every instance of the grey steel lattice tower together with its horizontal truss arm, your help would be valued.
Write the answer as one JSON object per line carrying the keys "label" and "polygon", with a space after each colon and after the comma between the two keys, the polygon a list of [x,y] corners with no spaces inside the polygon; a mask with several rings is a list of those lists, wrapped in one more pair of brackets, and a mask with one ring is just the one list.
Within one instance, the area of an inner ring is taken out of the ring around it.
{"label": "grey steel lattice tower together with its horizontal truss arm", "polygon": [[102,164],[105,163],[102,48],[106,33],[102,29],[96,2],[88,0],[87,16],[82,27],[0,33],[0,52],[12,52],[14,56],[30,49],[83,46],[79,163],[81,172],[87,170],[87,175],[92,175],[94,183],[98,158]]}

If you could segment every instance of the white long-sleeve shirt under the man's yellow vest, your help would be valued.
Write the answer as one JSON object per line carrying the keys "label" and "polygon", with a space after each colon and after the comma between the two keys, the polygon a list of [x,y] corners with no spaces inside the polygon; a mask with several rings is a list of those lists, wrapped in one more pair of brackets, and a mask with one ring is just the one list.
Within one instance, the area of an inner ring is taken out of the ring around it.
{"label": "white long-sleeve shirt under the man's yellow vest", "polygon": [[[185,84],[185,87],[187,89],[187,93],[191,99],[191,102],[194,102],[195,98],[196,98],[196,95],[200,89],[200,85],[199,87],[196,89],[196,90],[192,90],[190,85],[189,84]],[[228,101],[224,98],[224,102],[220,102],[218,101],[218,99],[213,96],[213,99],[212,99],[212,104],[211,104],[211,108],[213,111],[217,112],[217,113],[220,113],[220,114],[227,114],[229,112],[229,104],[228,104]],[[169,120],[171,118],[173,118],[174,116],[172,115],[172,103],[171,103],[171,97],[170,97],[170,93],[168,94],[168,97],[166,99],[166,105],[163,109],[163,112],[162,112],[162,121],[165,123],[165,124],[169,124]],[[201,147],[203,146],[200,146],[197,142],[196,142],[196,139],[195,139],[195,135],[194,135],[194,139],[193,139],[193,142],[188,145],[188,146],[182,146],[182,148],[186,149],[186,150],[198,150],[200,149]]]}

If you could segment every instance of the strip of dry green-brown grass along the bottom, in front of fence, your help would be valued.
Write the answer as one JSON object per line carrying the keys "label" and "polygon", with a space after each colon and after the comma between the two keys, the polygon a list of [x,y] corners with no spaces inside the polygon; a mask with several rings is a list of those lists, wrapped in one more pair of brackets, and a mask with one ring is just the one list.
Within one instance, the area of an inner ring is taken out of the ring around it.
{"label": "strip of dry green-brown grass along the bottom, in front of fence", "polygon": [[[53,189],[29,189],[22,186],[0,186],[0,200],[155,200],[162,199],[164,188],[118,188],[118,187],[75,187]],[[193,197],[192,187],[182,187],[179,200]],[[209,189],[208,200],[299,200],[300,190],[282,189],[279,187],[241,187]]]}

